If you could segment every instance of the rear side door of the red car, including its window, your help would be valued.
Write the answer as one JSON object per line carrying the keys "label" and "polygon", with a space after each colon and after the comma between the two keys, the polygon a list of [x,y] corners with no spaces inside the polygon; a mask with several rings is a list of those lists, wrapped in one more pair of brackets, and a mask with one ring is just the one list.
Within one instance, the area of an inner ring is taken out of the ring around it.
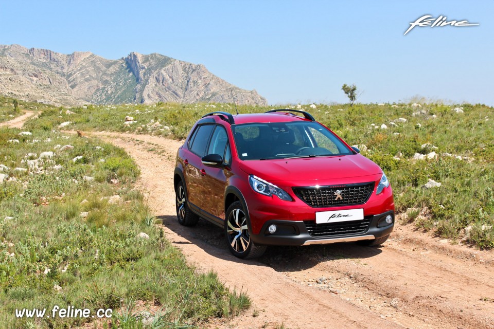
{"label": "rear side door of the red car, including its window", "polygon": [[206,148],[214,128],[214,124],[202,124],[196,128],[198,131],[194,133],[195,136],[189,145],[190,152],[187,157],[187,197],[189,203],[201,209],[204,209],[204,195],[210,193],[201,181],[204,174],[204,171],[201,173],[204,167],[201,158],[206,154]]}

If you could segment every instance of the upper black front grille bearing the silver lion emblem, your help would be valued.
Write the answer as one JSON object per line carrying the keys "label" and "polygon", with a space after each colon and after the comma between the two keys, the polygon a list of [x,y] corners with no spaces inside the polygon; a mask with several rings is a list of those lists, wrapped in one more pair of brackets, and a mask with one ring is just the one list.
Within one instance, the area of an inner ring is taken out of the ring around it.
{"label": "upper black front grille bearing the silver lion emblem", "polygon": [[[374,182],[321,187],[294,187],[293,192],[314,208],[361,205],[374,190]],[[341,198],[337,191],[340,191]]]}

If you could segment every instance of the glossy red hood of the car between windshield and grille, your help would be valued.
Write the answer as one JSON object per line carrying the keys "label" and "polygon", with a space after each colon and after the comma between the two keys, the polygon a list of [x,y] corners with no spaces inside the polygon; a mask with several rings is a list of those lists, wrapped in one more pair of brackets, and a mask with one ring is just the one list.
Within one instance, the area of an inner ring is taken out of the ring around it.
{"label": "glossy red hood of the car between windshield and grille", "polygon": [[240,169],[268,181],[331,180],[381,174],[376,163],[360,154],[276,160],[240,161]]}

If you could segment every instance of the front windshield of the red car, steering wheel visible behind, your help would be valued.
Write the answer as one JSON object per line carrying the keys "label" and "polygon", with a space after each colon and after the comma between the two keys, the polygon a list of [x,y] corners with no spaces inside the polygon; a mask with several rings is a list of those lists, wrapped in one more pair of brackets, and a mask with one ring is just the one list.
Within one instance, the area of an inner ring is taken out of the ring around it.
{"label": "front windshield of the red car, steering wheel visible behind", "polygon": [[317,122],[269,122],[233,125],[238,157],[242,160],[354,154]]}

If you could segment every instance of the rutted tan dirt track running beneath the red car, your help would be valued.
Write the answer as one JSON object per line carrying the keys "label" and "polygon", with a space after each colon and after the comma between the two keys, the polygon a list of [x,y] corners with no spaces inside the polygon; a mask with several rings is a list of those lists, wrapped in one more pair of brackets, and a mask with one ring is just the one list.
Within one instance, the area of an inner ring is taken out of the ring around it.
{"label": "rutted tan dirt track running beneath the red car", "polygon": [[[256,261],[226,249],[221,229],[205,221],[185,228],[174,208],[178,141],[96,133],[139,165],[138,186],[173,244],[201,270],[248,291],[253,307],[213,327],[494,328],[494,252],[440,243],[397,223],[383,247],[334,244],[271,247]],[[256,315],[256,316],[254,316]]]}

